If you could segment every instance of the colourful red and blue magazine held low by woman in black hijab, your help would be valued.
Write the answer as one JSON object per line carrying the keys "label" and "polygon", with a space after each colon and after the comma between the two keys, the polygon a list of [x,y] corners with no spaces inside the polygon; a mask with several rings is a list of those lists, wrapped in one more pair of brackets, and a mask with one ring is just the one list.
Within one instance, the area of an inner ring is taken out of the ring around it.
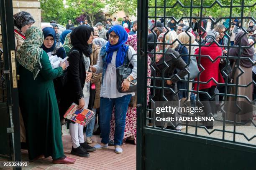
{"label": "colourful red and blue magazine held low by woman in black hijab", "polygon": [[95,113],[92,110],[86,108],[77,110],[77,107],[77,104],[72,103],[72,105],[65,113],[64,118],[86,126],[92,120],[92,117],[95,115]]}

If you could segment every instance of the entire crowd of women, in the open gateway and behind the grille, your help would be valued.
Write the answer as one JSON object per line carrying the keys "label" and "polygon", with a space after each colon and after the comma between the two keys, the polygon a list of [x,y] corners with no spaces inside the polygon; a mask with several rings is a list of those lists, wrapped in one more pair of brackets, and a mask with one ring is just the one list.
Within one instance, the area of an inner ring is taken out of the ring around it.
{"label": "entire crowd of women, in the open gateway and behind the grille", "polygon": [[[41,29],[32,26],[33,23],[35,20],[27,12],[22,11],[14,15],[15,51],[20,75],[21,141],[26,143],[29,159],[51,156],[53,163],[75,162],[75,159],[64,155],[61,140],[61,125],[66,122],[63,115],[72,103],[76,103],[79,109],[93,110],[95,117],[86,127],[85,140],[84,127],[67,120],[72,140],[71,154],[89,157],[88,152],[108,148],[109,145],[115,146],[115,153],[122,153],[121,145],[124,139],[136,144],[136,93],[126,91],[130,82],[137,78],[137,57],[134,55],[137,53],[137,35],[128,35],[122,26],[114,25],[108,30],[108,40],[104,40],[95,38],[94,28],[88,25],[72,27],[60,34],[56,25]],[[166,80],[151,81],[148,78],[147,86],[166,88],[148,88],[147,102],[151,97],[154,101],[169,100],[181,105],[189,97],[189,89],[193,90],[190,95],[191,103],[197,95],[204,105],[205,115],[214,114],[215,106],[212,106],[210,101],[215,97],[216,90],[225,92],[224,83],[227,78],[223,75],[220,64],[223,60],[227,62],[227,54],[242,57],[229,61],[234,72],[232,83],[241,85],[238,88],[232,86],[230,93],[247,96],[248,100],[253,100],[253,85],[248,84],[253,77],[255,51],[250,44],[253,44],[254,40],[248,40],[243,31],[237,32],[234,37],[233,45],[242,46],[240,52],[240,49],[233,46],[219,47],[228,45],[224,33],[227,28],[224,25],[217,25],[214,30],[209,30],[198,39],[197,32],[191,29],[182,28],[177,34],[176,31],[163,28],[160,24],[154,28],[156,34],[148,35],[157,36],[157,45],[151,45],[147,55],[147,76],[155,75]],[[205,45],[198,48],[197,45],[203,43]],[[62,59],[68,56],[69,66],[61,62],[59,67],[53,69],[49,60],[52,55]],[[198,66],[189,70],[188,65],[193,55],[196,56]],[[117,89],[117,68],[128,62],[133,66],[132,72],[123,80],[123,92],[120,93]],[[238,66],[245,76],[234,78],[241,74],[240,69],[234,69]],[[200,76],[194,78],[195,82],[191,86],[186,78],[183,78],[195,70],[200,72]],[[176,93],[178,95],[175,95]],[[219,101],[222,100],[223,95],[220,94]],[[225,100],[234,101],[235,98],[228,97]],[[247,101],[246,98],[238,100]],[[253,118],[251,112],[234,114],[231,105],[227,110],[223,115],[226,120],[246,121]],[[92,147],[88,144],[92,143],[96,120],[102,140]],[[204,125],[206,128],[213,128],[212,122]],[[167,128],[182,130],[181,125]]]}

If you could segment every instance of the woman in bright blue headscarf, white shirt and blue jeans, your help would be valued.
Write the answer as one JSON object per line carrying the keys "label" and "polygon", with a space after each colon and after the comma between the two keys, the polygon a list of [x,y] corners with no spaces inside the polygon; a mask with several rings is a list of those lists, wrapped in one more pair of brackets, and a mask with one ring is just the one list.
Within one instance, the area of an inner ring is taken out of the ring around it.
{"label": "woman in bright blue headscarf, white shirt and blue jeans", "polygon": [[102,73],[100,90],[100,127],[101,143],[95,145],[96,149],[107,148],[110,134],[110,118],[115,107],[115,153],[122,153],[120,147],[125,130],[125,117],[131,96],[134,93],[120,93],[117,90],[116,68],[131,61],[133,69],[131,74],[122,83],[122,90],[129,89],[131,80],[137,78],[137,57],[131,46],[125,45],[128,34],[120,25],[114,25],[109,30],[108,43],[100,50],[97,65],[91,66],[92,72]]}

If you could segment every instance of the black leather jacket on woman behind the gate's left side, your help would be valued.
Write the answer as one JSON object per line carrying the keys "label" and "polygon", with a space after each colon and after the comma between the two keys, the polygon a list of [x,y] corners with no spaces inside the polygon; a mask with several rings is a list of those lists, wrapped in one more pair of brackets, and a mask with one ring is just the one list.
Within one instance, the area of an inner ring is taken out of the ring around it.
{"label": "black leather jacket on woman behind the gate's left side", "polygon": [[[169,80],[172,80],[172,85],[167,85],[166,81],[164,81],[164,85],[162,85],[162,80],[156,80],[155,86],[172,88],[175,92],[177,92],[176,82],[179,81],[179,77],[182,78],[188,74],[188,71],[186,70],[187,64],[182,60],[181,57],[176,58],[179,56],[179,52],[176,52],[171,48],[169,48],[166,51],[166,53],[170,53],[170,54],[165,55],[165,62],[164,62],[164,57],[162,57],[159,60],[159,62],[153,61],[152,67],[154,67],[154,69],[151,69],[151,75],[156,77],[162,77],[162,71],[166,69],[166,64],[167,64],[169,67],[164,71],[164,78],[169,78]],[[175,68],[179,69],[179,72],[177,72],[177,75],[179,77],[174,75]],[[151,85],[154,85],[154,80],[151,80]],[[179,100],[178,95],[174,95],[174,92],[171,89],[164,89],[164,90],[155,89],[155,92],[152,90],[151,95],[154,95],[153,97],[154,101],[165,101],[166,99],[168,101]],[[164,99],[164,97],[166,97],[166,99]]]}

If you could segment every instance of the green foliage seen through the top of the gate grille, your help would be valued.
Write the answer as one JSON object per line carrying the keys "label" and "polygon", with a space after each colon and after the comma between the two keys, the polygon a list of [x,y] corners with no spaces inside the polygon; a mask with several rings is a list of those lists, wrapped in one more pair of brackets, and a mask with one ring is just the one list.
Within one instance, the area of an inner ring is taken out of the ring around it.
{"label": "green foliage seen through the top of the gate grille", "polygon": [[[204,0],[203,5],[204,6],[210,6],[213,2],[216,0]],[[202,17],[207,17],[209,15],[212,15],[215,19],[218,19],[220,17],[229,17],[230,16],[230,0],[218,0],[222,5],[228,6],[228,7],[220,7],[217,3],[213,5],[210,8],[203,8],[202,9]],[[179,19],[181,17],[190,17],[190,6],[200,6],[201,1],[200,0],[179,0],[179,2],[182,3],[184,6],[188,7],[182,7],[181,5],[177,4],[173,7],[173,5],[177,2],[177,0],[166,0],[166,16],[171,17],[174,16],[175,19]],[[242,0],[233,0],[233,5],[241,5]],[[155,4],[155,0],[148,0],[149,6],[164,6],[164,0],[157,0]],[[245,0],[244,5],[253,5],[253,2],[251,0]],[[154,8],[148,9],[148,15],[149,16],[155,16],[155,12],[157,16],[164,16],[164,9],[163,8],[157,8],[156,11]],[[243,9],[243,16],[245,17],[253,17],[255,18],[255,7],[245,7]],[[193,8],[192,9],[192,17],[199,17],[201,14],[200,7]],[[239,8],[232,8],[232,17],[241,17],[241,7]],[[153,18],[152,18],[153,19]],[[159,19],[159,18],[157,18]]]}

